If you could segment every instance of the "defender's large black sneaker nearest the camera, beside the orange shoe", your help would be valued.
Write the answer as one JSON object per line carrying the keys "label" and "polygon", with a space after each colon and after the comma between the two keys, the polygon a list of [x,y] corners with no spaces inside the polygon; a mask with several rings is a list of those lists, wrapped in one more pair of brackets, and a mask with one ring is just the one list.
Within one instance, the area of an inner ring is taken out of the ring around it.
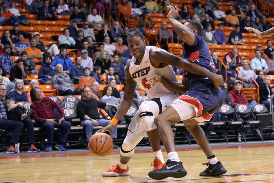
{"label": "defender's large black sneaker nearest the camera, beside the orange shoe", "polygon": [[150,171],[148,176],[155,180],[162,180],[168,177],[181,178],[186,176],[187,171],[183,167],[183,163],[167,160],[167,163],[160,168]]}

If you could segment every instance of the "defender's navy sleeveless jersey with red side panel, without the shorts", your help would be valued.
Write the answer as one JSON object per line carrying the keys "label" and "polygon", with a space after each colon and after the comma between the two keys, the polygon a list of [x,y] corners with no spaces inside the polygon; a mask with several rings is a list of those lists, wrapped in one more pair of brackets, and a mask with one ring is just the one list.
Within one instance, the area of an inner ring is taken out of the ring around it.
{"label": "defender's navy sleeveless jersey with red side panel, without the shorts", "polygon": [[[195,34],[195,41],[193,45],[190,46],[187,43],[184,43],[182,58],[199,64],[200,66],[216,74],[216,67],[211,58],[209,48],[205,41],[202,40],[202,38],[200,38],[197,34]],[[184,70],[183,77],[187,78],[190,85],[195,83],[197,80],[204,78],[204,76],[192,74],[187,70]]]}

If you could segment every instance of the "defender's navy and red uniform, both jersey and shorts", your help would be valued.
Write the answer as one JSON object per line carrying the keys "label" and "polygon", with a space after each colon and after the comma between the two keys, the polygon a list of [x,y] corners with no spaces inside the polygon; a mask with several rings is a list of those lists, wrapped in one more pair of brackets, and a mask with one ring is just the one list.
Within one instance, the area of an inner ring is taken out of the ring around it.
{"label": "defender's navy and red uniform, both jersey and shorts", "polygon": [[[211,58],[209,48],[197,34],[195,34],[193,45],[190,46],[184,43],[182,58],[199,64],[216,74],[215,64]],[[196,118],[203,117],[204,121],[209,121],[213,113],[221,107],[224,101],[225,90],[223,86],[220,87],[221,90],[217,90],[213,81],[209,78],[192,74],[186,70],[184,70],[183,77],[188,80],[190,89],[178,99],[196,106]]]}

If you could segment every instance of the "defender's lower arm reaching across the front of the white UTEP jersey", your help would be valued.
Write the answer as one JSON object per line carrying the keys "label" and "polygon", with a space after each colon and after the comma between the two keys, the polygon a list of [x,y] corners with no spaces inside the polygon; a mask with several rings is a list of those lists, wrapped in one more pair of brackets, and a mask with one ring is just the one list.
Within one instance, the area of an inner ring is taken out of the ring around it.
{"label": "defender's lower arm reaching across the front of the white UTEP jersey", "polygon": [[149,77],[146,84],[153,85],[153,87],[155,88],[154,84],[158,82],[162,83],[170,91],[173,91],[180,95],[188,91],[187,85],[179,82],[169,81],[167,78],[158,74],[154,74],[153,76]]}

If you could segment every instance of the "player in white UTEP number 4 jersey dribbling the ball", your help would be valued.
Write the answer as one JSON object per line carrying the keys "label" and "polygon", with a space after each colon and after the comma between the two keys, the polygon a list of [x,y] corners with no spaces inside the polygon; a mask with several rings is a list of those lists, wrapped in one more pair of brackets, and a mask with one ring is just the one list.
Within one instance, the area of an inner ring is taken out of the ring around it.
{"label": "player in white UTEP number 4 jersey dribbling the ball", "polygon": [[[222,76],[212,74],[202,66],[174,56],[155,46],[146,46],[143,34],[138,29],[130,31],[127,40],[133,57],[126,66],[125,95],[110,124],[97,132],[110,131],[111,135],[113,134],[114,125],[125,115],[133,102],[136,83],[143,85],[148,95],[128,127],[128,134],[121,146],[120,163],[103,172],[103,177],[129,175],[128,162],[133,156],[134,147],[143,137],[147,136],[154,152],[153,170],[163,166],[164,160],[160,147],[160,136],[153,120],[163,110],[167,109],[167,106],[170,105],[173,99],[177,98],[178,94],[173,93],[161,83],[156,83],[155,87],[146,84],[149,77],[158,73],[170,82],[177,82],[176,75],[169,65],[172,64],[191,73],[209,77],[216,88],[219,88],[218,85],[223,84]],[[166,60],[165,63],[157,61],[158,56],[162,57],[162,60]],[[182,90],[184,90],[183,85],[178,89],[178,93],[182,93]],[[149,177],[146,176],[146,178]]]}

